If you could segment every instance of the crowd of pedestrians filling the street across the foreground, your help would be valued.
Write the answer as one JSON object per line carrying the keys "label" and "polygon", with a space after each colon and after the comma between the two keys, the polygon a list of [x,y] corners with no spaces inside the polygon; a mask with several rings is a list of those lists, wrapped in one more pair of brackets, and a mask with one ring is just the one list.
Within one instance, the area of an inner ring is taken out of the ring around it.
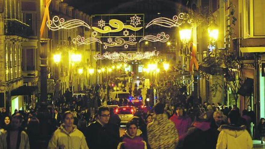
{"label": "crowd of pedestrians filling the street across the foreground", "polygon": [[[120,134],[120,118],[113,109],[102,106],[91,116],[91,113],[85,114],[88,111],[83,113],[78,106],[75,110],[70,105],[63,113],[63,109],[54,110],[51,121],[55,123],[51,123],[54,128],[48,148],[251,149],[251,112],[246,110],[241,116],[237,107],[213,106],[204,103],[186,109],[178,103],[169,115],[165,104],[158,102],[153,113],[136,112],[126,124],[124,134]],[[9,116],[3,109],[1,117],[0,149],[38,147],[40,128],[34,110],[29,113],[16,110]],[[262,118],[258,125],[261,141],[265,135],[264,121]]]}

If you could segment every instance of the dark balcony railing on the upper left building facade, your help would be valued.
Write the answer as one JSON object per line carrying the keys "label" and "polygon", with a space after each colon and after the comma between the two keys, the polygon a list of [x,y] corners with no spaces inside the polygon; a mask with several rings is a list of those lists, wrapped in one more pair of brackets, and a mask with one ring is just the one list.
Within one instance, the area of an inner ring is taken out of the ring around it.
{"label": "dark balcony railing on the upper left building facade", "polygon": [[5,35],[28,37],[29,25],[17,19],[5,19]]}

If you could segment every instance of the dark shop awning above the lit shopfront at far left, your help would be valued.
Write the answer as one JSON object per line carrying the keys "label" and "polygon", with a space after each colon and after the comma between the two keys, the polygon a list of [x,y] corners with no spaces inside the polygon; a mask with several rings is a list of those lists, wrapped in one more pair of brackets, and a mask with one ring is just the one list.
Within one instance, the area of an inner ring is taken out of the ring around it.
{"label": "dark shop awning above the lit shopfront at far left", "polygon": [[14,89],[11,91],[11,96],[18,96],[18,95],[32,95],[33,92],[37,89],[37,86],[20,86],[19,88]]}

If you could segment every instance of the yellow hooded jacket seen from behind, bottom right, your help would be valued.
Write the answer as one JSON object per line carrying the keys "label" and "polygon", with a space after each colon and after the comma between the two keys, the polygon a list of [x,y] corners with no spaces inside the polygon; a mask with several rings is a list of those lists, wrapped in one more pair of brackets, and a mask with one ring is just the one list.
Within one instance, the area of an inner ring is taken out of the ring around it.
{"label": "yellow hooded jacket seen from behind, bottom right", "polygon": [[252,138],[246,130],[246,126],[222,125],[218,128],[216,149],[251,149],[253,147]]}

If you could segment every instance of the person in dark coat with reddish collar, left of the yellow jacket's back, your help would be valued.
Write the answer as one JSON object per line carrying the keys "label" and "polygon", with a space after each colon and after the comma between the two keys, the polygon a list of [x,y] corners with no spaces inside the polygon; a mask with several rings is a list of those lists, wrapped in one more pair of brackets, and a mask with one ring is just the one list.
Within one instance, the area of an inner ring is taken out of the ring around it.
{"label": "person in dark coat with reddish collar, left of the yellow jacket's back", "polygon": [[210,131],[210,122],[207,121],[207,114],[204,110],[196,107],[194,109],[195,120],[188,129],[183,142],[183,149],[204,148],[213,149],[213,141]]}

